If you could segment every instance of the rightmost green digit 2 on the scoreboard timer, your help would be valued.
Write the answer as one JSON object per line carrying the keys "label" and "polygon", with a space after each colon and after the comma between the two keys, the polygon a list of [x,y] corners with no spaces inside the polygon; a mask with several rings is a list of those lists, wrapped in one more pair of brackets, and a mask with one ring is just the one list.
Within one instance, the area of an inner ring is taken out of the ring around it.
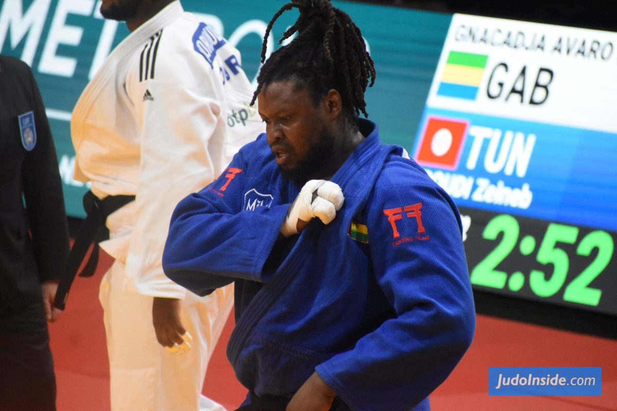
{"label": "rightmost green digit 2 on the scoreboard timer", "polygon": [[589,256],[594,248],[598,249],[598,255],[576,279],[568,284],[563,293],[565,301],[589,306],[597,306],[600,303],[602,290],[587,287],[587,285],[600,275],[611,261],[613,250],[615,250],[613,238],[605,231],[592,231],[581,240],[576,253],[579,256]]}

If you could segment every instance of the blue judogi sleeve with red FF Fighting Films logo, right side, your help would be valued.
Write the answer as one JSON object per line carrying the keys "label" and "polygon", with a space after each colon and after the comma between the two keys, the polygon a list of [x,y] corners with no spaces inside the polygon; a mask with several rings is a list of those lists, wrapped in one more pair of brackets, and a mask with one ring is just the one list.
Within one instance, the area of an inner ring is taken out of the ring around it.
{"label": "blue judogi sleeve with red FF Fighting Films logo, right side", "polygon": [[366,218],[370,261],[395,317],[316,369],[354,410],[410,410],[473,338],[460,218],[441,188],[397,161],[384,168]]}

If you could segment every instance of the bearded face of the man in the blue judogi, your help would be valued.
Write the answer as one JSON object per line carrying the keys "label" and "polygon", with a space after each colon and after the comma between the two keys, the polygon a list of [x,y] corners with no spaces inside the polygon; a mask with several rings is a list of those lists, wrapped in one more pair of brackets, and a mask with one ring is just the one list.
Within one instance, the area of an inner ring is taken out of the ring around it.
{"label": "bearded face of the man in the blue judogi", "polygon": [[325,177],[320,174],[331,160],[336,139],[329,132],[326,105],[315,104],[306,89],[294,86],[293,80],[264,85],[257,99],[276,164],[283,176],[304,184]]}

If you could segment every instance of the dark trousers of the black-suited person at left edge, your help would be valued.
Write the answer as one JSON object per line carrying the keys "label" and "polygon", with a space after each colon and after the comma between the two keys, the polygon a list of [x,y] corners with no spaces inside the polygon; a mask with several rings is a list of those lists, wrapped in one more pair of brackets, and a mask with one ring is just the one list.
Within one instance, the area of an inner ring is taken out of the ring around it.
{"label": "dark trousers of the black-suited person at left edge", "polygon": [[0,306],[0,410],[56,410],[56,375],[42,301],[18,309]]}

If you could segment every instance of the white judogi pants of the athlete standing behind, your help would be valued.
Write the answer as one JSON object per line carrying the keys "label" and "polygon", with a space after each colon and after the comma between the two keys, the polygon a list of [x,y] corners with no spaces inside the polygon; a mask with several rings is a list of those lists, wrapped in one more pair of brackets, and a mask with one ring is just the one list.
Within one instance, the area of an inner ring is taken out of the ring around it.
{"label": "white judogi pants of the athlete standing behind", "polygon": [[124,269],[116,260],[99,291],[112,411],[225,411],[201,391],[208,361],[233,306],[233,288],[219,288],[205,297],[186,293],[181,320],[193,336],[192,348],[170,354],[156,340],[152,297],[124,291]]}

